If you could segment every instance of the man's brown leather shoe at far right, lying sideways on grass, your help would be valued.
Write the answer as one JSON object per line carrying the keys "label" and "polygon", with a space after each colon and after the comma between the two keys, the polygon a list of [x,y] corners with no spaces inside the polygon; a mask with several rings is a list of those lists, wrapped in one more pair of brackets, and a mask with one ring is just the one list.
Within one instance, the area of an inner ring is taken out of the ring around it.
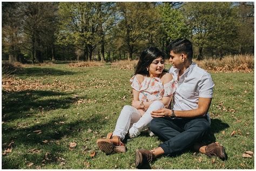
{"label": "man's brown leather shoe at far right, lying sideways on grass", "polygon": [[211,143],[205,148],[206,155],[218,156],[221,160],[227,160],[227,155],[223,146],[218,146],[215,143]]}

